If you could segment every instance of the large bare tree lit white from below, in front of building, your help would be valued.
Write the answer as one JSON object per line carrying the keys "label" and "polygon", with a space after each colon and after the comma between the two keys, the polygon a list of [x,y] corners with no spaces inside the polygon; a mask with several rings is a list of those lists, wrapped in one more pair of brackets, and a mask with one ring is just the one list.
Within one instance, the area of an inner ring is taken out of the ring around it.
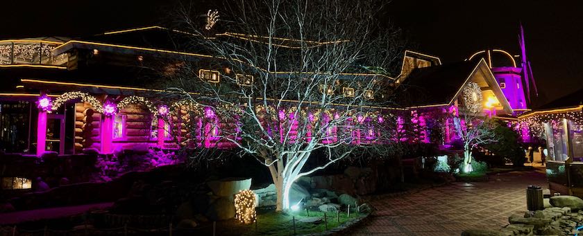
{"label": "large bare tree lit white from below, in front of building", "polygon": [[[213,57],[185,60],[169,87],[214,124],[228,124],[212,134],[215,143],[228,141],[269,168],[278,211],[297,204],[288,196],[296,179],[355,148],[382,152],[391,142],[394,120],[375,106],[387,102],[382,90],[403,42],[398,30],[378,26],[379,2],[230,1],[212,30],[180,11],[181,30],[196,32],[187,47]],[[315,153],[326,161],[307,165]]]}

